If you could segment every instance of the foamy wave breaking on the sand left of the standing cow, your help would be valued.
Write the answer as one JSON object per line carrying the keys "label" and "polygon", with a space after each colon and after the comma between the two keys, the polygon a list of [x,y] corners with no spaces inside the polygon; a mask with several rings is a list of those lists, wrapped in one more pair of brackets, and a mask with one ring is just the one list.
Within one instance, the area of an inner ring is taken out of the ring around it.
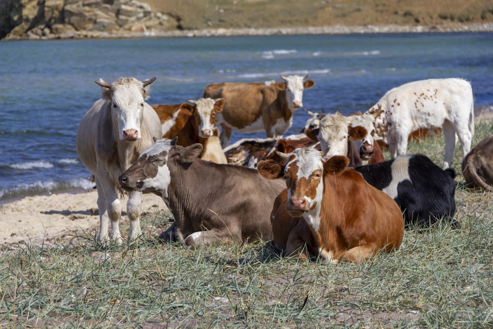
{"label": "foamy wave breaking on the sand left of the standing cow", "polygon": [[8,189],[0,189],[0,201],[8,201],[25,196],[33,196],[46,193],[76,191],[94,188],[91,180],[80,178],[68,181],[36,181],[35,183],[22,183]]}

